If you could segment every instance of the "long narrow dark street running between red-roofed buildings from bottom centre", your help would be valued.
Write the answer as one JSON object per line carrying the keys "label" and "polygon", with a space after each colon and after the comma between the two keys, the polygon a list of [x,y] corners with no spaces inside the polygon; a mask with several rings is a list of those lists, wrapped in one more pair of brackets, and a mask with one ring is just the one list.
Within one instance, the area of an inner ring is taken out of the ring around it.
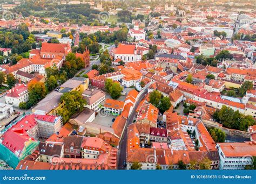
{"label": "long narrow dark street running between red-roofed buildings from bottom centre", "polygon": [[130,117],[128,118],[125,130],[123,133],[123,137],[121,138],[120,144],[119,144],[119,150],[118,150],[118,169],[125,169],[123,166],[124,160],[126,160],[126,145],[127,145],[127,129],[128,125],[132,124],[133,118],[136,115],[136,109],[138,108],[139,103],[142,101],[143,97],[147,94],[147,91],[145,91],[142,95],[140,95],[137,103],[134,105],[134,108],[132,110],[132,113]]}

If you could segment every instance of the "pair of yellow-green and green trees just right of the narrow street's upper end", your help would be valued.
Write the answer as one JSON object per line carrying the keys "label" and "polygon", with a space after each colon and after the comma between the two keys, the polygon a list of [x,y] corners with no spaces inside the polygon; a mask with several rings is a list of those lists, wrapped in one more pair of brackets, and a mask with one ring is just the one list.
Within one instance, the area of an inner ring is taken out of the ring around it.
{"label": "pair of yellow-green and green trees just right of the narrow street's upper end", "polygon": [[162,114],[171,107],[170,98],[164,97],[158,90],[150,93],[150,103],[157,107]]}

